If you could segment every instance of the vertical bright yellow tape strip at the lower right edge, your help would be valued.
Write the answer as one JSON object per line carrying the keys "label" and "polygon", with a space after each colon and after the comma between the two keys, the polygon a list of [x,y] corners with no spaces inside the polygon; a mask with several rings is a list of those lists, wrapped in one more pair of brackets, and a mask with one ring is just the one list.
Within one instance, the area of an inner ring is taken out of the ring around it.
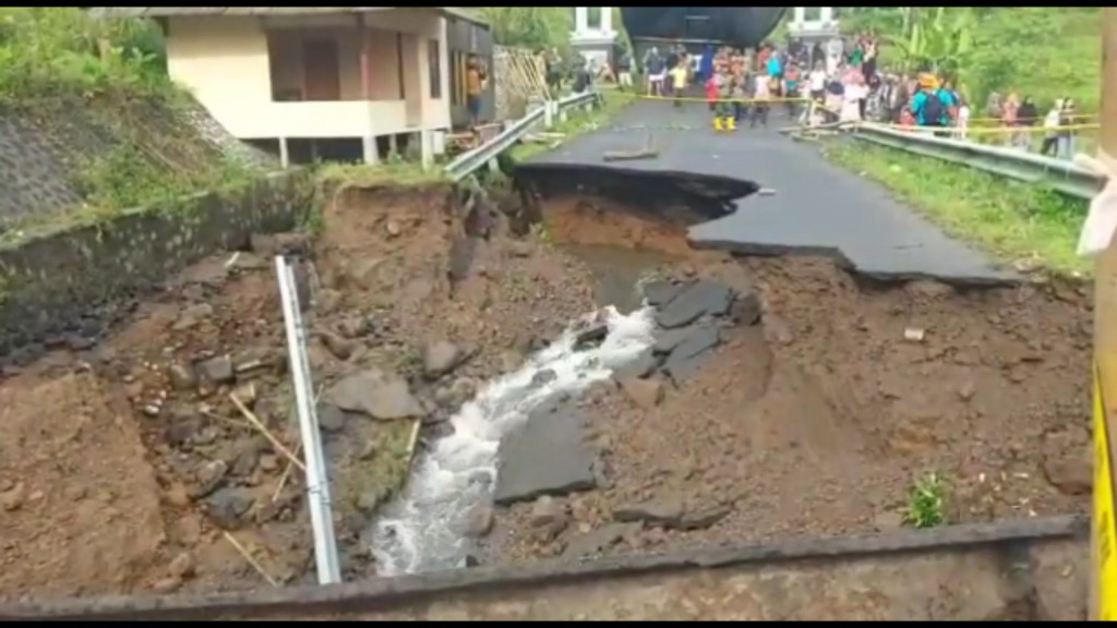
{"label": "vertical bright yellow tape strip at the lower right edge", "polygon": [[1109,428],[1100,377],[1094,373],[1094,577],[1098,619],[1117,621],[1117,529]]}

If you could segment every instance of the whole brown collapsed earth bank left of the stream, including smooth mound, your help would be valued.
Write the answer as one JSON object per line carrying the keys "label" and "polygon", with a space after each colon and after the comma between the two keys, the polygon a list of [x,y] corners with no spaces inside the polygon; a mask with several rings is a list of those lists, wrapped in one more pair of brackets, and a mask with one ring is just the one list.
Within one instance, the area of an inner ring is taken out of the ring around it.
{"label": "whole brown collapsed earth bank left of the stream, including smooth mound", "polygon": [[[592,310],[583,266],[460,201],[442,187],[349,189],[302,266],[350,577],[373,569],[357,534],[409,450],[538,334]],[[0,597],[316,581],[271,263],[311,250],[296,234],[254,238],[170,280],[92,349],[51,343],[4,370]]]}

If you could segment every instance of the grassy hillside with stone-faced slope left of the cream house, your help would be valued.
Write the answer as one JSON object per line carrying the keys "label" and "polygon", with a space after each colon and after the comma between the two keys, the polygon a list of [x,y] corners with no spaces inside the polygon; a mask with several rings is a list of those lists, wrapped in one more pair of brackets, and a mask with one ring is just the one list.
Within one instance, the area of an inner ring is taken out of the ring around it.
{"label": "grassy hillside with stone-faced slope left of the cream house", "polygon": [[0,8],[0,234],[150,204],[261,159],[164,70],[157,29],[75,7]]}

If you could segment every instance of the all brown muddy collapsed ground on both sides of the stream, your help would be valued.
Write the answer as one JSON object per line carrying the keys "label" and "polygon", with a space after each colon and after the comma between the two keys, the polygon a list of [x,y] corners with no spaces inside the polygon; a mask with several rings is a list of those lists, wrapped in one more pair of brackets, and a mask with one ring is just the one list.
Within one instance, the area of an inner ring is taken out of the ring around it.
{"label": "all brown muddy collapsed ground on both sides of the stream", "polygon": [[[375,569],[360,533],[413,447],[445,434],[484,381],[624,292],[603,289],[615,273],[595,275],[567,244],[628,246],[659,264],[639,263],[621,284],[655,270],[755,291],[763,320],[726,330],[679,387],[652,382],[662,392],[651,402],[593,389],[590,438],[608,482],[548,502],[545,533],[540,504],[496,510],[485,562],[572,555],[572,541],[607,529],[604,553],[887,530],[926,470],[949,483],[951,521],[1086,508],[1083,288],[859,285],[827,260],[694,253],[678,227],[594,199],[547,203],[546,228],[526,237],[466,209],[443,188],[350,189],[313,245],[257,238],[188,269],[96,346],[7,371],[0,597],[315,581],[302,476],[286,453],[298,455],[299,438],[270,261],[279,250],[313,258],[302,275],[315,295],[312,369],[350,578]],[[925,335],[905,340],[906,329]],[[663,504],[718,516],[687,531],[610,527],[619,510]]]}

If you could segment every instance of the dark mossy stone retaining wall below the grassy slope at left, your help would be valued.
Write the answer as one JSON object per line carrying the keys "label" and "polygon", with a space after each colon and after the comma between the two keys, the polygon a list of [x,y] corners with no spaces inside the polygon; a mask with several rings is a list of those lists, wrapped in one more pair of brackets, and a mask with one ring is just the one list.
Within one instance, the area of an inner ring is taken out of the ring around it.
{"label": "dark mossy stone retaining wall below the grassy slope at left", "polygon": [[311,174],[290,171],[0,245],[0,361],[88,344],[132,297],[254,232],[294,228],[313,202]]}

